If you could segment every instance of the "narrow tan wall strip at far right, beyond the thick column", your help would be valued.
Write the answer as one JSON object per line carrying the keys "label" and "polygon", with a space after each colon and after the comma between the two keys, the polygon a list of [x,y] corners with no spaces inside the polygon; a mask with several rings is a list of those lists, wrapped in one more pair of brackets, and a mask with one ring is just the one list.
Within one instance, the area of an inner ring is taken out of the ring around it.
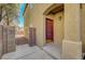
{"label": "narrow tan wall strip at far right, beyond the thick column", "polygon": [[83,42],[83,52],[85,52],[85,4],[82,4],[82,42]]}

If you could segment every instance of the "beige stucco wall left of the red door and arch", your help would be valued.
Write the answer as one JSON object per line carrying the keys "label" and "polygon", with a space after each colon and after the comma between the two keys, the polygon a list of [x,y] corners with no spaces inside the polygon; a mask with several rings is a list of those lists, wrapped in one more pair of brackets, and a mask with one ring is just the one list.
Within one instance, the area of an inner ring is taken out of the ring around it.
{"label": "beige stucco wall left of the red door and arch", "polygon": [[30,9],[30,24],[32,24],[33,27],[37,28],[37,44],[39,47],[44,46],[45,43],[45,28],[44,28],[44,11],[52,5],[51,3],[39,3],[39,4],[33,4],[33,8]]}

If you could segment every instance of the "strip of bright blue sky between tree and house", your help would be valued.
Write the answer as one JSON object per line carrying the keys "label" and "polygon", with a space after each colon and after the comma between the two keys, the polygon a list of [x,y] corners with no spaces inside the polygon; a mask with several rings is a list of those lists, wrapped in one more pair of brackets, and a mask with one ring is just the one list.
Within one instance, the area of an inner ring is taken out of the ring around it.
{"label": "strip of bright blue sky between tree and house", "polygon": [[23,13],[24,13],[24,9],[25,9],[25,3],[19,4],[19,27],[24,27],[24,17],[23,17]]}

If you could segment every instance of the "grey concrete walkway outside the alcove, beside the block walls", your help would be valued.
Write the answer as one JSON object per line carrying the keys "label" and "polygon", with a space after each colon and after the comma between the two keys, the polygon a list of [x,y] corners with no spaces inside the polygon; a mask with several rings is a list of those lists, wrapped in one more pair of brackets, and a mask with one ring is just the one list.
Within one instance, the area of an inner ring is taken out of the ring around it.
{"label": "grey concrete walkway outside the alcove, beside the block walls", "polygon": [[53,60],[53,57],[37,46],[20,44],[16,47],[15,52],[4,54],[2,60]]}

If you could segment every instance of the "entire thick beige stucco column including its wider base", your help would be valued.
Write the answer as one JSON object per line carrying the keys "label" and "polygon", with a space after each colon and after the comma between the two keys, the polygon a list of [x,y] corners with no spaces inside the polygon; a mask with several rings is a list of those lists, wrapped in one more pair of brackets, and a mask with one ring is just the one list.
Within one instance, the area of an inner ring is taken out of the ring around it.
{"label": "entire thick beige stucco column including its wider base", "polygon": [[65,38],[62,59],[82,59],[81,9],[79,3],[65,4]]}

